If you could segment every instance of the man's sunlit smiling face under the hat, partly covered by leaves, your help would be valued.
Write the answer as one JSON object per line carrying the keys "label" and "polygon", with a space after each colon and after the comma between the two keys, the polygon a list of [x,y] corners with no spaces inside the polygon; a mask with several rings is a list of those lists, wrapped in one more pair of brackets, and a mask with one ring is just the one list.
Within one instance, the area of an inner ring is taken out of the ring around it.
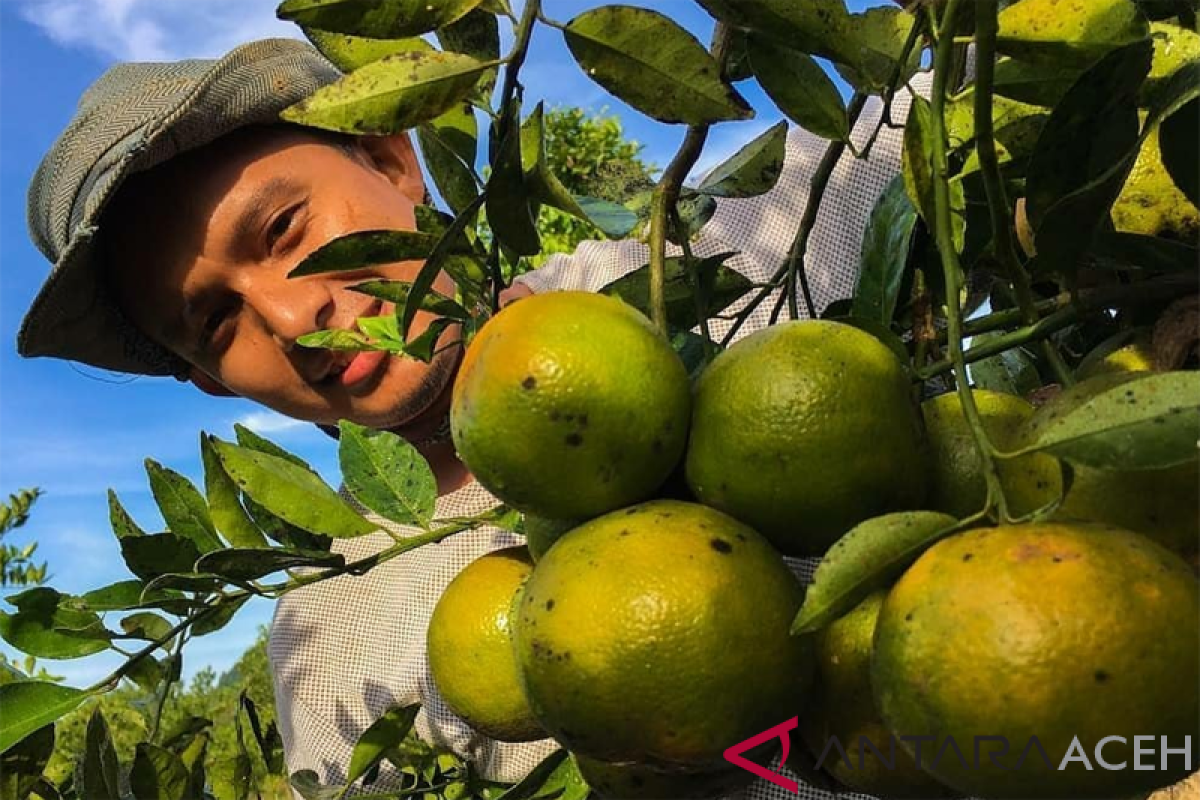
{"label": "man's sunlit smiling face under the hat, partly covered by leaves", "polygon": [[[241,132],[139,178],[106,218],[109,270],[126,313],[194,367],[193,380],[288,416],[376,428],[444,411],[457,329],[432,363],[295,343],[392,311],[347,287],[412,281],[421,261],[304,278],[287,273],[344,234],[415,228],[424,198],[407,137],[353,148],[290,128]],[[109,222],[112,223],[109,225]],[[444,275],[434,284],[454,293]],[[419,313],[413,335],[432,318]]]}

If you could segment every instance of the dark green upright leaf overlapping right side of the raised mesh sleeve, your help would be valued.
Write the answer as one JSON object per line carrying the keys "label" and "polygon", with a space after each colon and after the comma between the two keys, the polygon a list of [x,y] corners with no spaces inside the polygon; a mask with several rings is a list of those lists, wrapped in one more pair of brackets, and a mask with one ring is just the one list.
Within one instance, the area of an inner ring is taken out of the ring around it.
{"label": "dark green upright leaf overlapping right side of the raised mesh sleeve", "polygon": [[892,324],[904,283],[917,224],[917,209],[905,191],[904,178],[892,179],[875,203],[863,231],[863,258],[851,315]]}

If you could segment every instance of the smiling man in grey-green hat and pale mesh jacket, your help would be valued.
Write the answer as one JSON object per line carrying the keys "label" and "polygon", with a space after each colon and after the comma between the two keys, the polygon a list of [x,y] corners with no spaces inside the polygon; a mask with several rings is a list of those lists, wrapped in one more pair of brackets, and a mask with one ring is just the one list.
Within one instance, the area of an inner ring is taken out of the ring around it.
{"label": "smiling man in grey-green hat and pale mesh jacket", "polygon": [[[461,348],[443,348],[422,363],[296,344],[310,331],[349,329],[359,317],[390,311],[347,287],[366,277],[412,279],[420,269],[400,263],[287,278],[335,237],[413,229],[414,209],[426,201],[408,136],[343,137],[278,122],[283,108],[338,77],[310,46],[292,40],[253,42],[218,60],[124,64],[104,73],[30,187],[30,228],[53,267],[18,349],[173,375],[322,426],[349,419],[394,431],[433,467],[437,516],[473,515],[497,501],[472,480],[449,440]],[[906,108],[907,97],[898,98],[893,116],[904,119]],[[868,106],[859,144],[880,110]],[[766,281],[792,243],[826,144],[793,130],[778,186],[758,198],[721,201],[695,243],[697,254],[737,251],[730,266]],[[863,229],[898,172],[900,146],[899,132],[884,127],[869,160],[846,157],[835,169],[809,251],[818,307],[852,294]],[[646,260],[640,242],[587,242],[520,277],[504,300],[596,290]],[[446,276],[438,281],[452,293]],[[772,305],[760,307],[742,333],[764,325]],[[430,321],[419,314],[415,332]],[[716,323],[716,335],[724,325]],[[451,329],[442,342],[456,337]],[[391,543],[380,530],[335,549],[349,560]],[[338,782],[362,730],[388,708],[412,703],[421,704],[418,733],[470,759],[485,777],[520,780],[548,754],[556,746],[548,740],[502,744],[472,730],[438,697],[425,658],[430,614],[451,578],[479,555],[518,543],[484,528],[280,601],[270,656],[289,771],[311,769]],[[373,788],[396,781],[384,774]],[[832,795],[803,784],[793,795],[758,782],[746,796]]]}

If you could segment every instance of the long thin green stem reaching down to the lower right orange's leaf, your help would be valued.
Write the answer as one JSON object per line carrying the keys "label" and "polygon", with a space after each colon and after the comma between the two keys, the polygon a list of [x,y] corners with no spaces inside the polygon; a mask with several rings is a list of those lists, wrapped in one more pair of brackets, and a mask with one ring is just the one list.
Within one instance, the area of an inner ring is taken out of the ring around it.
{"label": "long thin green stem reaching down to the lower right orange's leaf", "polygon": [[[976,450],[979,452],[984,479],[988,483],[988,505],[985,506],[985,512],[990,513],[992,510],[996,510],[1000,518],[1006,519],[1008,517],[1008,509],[1004,500],[1004,489],[1000,482],[1000,471],[996,467],[996,449],[988,439],[988,432],[983,427],[983,420],[974,402],[974,393],[971,389],[971,379],[967,375],[966,360],[962,351],[962,306],[960,303],[962,265],[959,261],[959,253],[954,246],[954,210],[950,205],[949,162],[946,152],[946,98],[950,89],[949,79],[954,65],[955,47],[954,26],[960,5],[961,0],[947,0],[946,11],[942,14],[941,30],[938,31],[937,47],[934,50],[934,86],[930,92],[929,143],[930,167],[934,178],[934,234],[937,242],[937,252],[942,261],[942,273],[946,279],[947,344],[950,351],[955,383],[958,384],[959,402],[962,403],[962,413],[974,438]],[[932,14],[931,8],[926,8],[926,11]]]}

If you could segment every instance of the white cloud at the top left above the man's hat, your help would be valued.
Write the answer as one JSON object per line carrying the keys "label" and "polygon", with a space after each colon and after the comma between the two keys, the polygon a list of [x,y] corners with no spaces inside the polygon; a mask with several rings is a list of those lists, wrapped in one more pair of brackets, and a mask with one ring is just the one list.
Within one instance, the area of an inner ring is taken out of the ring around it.
{"label": "white cloud at the top left above the man's hat", "polygon": [[20,16],[65,47],[106,59],[214,58],[241,42],[299,36],[275,0],[18,0]]}

